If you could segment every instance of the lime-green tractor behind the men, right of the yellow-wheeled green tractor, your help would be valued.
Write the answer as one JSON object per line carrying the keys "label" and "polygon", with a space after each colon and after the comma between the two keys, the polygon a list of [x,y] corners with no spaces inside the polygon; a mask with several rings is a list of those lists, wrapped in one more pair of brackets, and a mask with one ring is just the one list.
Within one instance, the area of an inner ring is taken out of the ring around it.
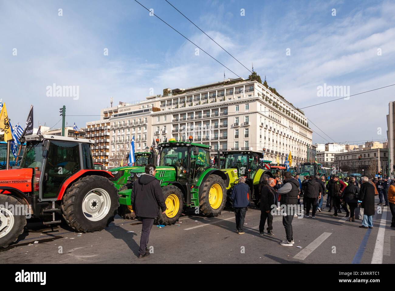
{"label": "lime-green tractor behind the men, right of the yellow-wheeled green tractor", "polygon": [[[263,161],[263,154],[254,150],[224,150],[222,156],[225,159],[224,164],[221,166],[221,171],[227,173],[229,176],[229,183],[227,186],[228,191],[228,202],[233,186],[239,182],[240,176],[246,177],[246,184],[250,186],[251,197],[250,201],[253,201],[258,207],[261,194],[259,193],[258,186],[263,179],[263,174],[273,178],[273,174],[270,169],[270,161]],[[269,165],[265,162],[269,162]]]}

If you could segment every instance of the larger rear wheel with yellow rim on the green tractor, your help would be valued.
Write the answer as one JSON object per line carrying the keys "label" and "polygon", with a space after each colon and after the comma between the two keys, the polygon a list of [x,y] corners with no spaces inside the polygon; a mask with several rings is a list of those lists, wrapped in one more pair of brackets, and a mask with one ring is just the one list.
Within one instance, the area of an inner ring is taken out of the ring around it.
{"label": "larger rear wheel with yellow rim on the green tractor", "polygon": [[226,203],[226,186],[218,175],[210,175],[199,193],[200,213],[204,216],[218,216]]}

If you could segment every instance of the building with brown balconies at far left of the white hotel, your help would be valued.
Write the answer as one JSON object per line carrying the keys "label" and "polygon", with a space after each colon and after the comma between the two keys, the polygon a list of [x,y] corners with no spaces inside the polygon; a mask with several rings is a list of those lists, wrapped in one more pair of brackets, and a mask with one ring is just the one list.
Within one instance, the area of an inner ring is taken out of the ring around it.
{"label": "building with brown balconies at far left of the white hotel", "polygon": [[108,119],[87,122],[86,138],[92,139],[96,145],[92,146],[92,158],[95,163],[102,163],[103,169],[109,169],[110,157],[110,122]]}

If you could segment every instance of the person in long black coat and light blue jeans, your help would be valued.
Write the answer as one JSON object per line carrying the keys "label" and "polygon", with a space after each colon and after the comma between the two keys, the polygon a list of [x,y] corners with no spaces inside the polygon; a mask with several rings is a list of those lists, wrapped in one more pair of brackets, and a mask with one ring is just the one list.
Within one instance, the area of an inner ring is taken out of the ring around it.
{"label": "person in long black coat and light blue jeans", "polygon": [[359,190],[358,203],[363,208],[363,221],[360,228],[373,228],[374,215],[374,186],[369,183],[368,177],[362,177],[361,190]]}

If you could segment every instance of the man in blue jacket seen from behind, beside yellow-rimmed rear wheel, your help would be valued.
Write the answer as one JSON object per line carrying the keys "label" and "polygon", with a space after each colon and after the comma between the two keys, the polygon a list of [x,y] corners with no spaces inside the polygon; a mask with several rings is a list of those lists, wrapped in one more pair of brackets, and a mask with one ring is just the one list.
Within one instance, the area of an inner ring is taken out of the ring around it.
{"label": "man in blue jacket seen from behind, beside yellow-rimmed rear wheel", "polygon": [[241,176],[239,183],[233,187],[230,200],[233,203],[236,216],[236,228],[239,234],[244,234],[243,225],[248,205],[250,204],[250,187],[245,183],[246,177]]}

